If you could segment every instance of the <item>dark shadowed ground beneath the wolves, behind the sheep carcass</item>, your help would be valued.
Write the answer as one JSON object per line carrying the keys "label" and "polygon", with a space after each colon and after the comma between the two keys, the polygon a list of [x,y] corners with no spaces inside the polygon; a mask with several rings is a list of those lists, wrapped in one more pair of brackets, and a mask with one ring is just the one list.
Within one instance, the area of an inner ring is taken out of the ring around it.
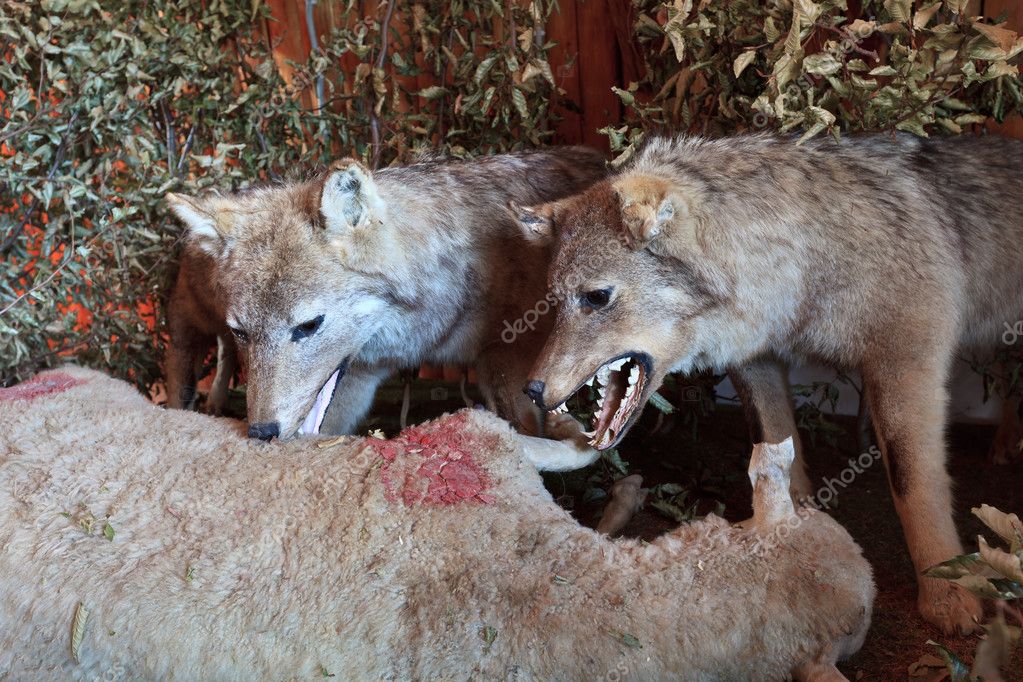
{"label": "dark shadowed ground beneath the wolves, behind the sheep carcass", "polygon": [[[458,409],[463,401],[457,384],[418,380],[412,384],[409,423]],[[398,430],[401,405],[400,383],[385,384],[365,427],[383,428],[389,436]],[[478,399],[470,394],[471,399]],[[803,433],[807,461],[815,482],[838,476],[858,447],[852,419],[836,418],[833,444]],[[971,507],[987,503],[1004,511],[1023,512],[1023,463],[994,466],[987,461],[993,426],[953,425],[948,434],[949,464],[955,482],[955,517],[964,545],[973,551],[976,536],[984,529],[970,513]],[[814,442],[816,440],[816,442]],[[746,466],[751,444],[738,408],[715,408],[698,420],[693,414],[676,413],[657,418],[646,413],[620,447],[621,459],[629,473],[643,476],[646,487],[677,484],[687,492],[676,508],[699,514],[723,504],[729,520],[751,513],[750,485]],[[602,461],[582,472],[546,476],[555,499],[570,508],[581,522],[595,526],[605,500],[603,492],[614,478],[622,475],[614,463]],[[675,489],[677,490],[677,489]],[[674,492],[674,491],[671,491]],[[678,501],[678,498],[675,498]],[[862,650],[841,665],[852,680],[935,680],[933,676],[909,677],[909,667],[934,650],[935,640],[962,660],[973,658],[979,637],[947,637],[924,623],[916,610],[913,565],[902,539],[891,501],[884,467],[872,466],[840,492],[833,513],[862,546],[875,571],[878,600],[874,622]],[[673,528],[677,521],[653,508],[641,510],[624,530],[624,535],[652,539]],[[1009,682],[1023,682],[1023,647],[1018,647]]]}

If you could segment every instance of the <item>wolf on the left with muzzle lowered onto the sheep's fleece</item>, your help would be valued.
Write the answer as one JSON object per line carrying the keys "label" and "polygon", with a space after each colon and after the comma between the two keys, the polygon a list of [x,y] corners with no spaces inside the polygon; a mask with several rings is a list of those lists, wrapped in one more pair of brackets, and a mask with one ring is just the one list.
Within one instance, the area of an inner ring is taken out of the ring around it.
{"label": "wolf on the left with muzzle lowered onto the sheep's fleece", "polygon": [[[501,332],[543,299],[547,253],[505,206],[604,175],[598,152],[566,147],[374,173],[345,161],[303,182],[168,195],[247,365],[253,436],[350,433],[379,383],[419,362],[474,364],[488,405],[541,433],[521,387],[550,320]],[[559,417],[551,430],[571,435]]]}

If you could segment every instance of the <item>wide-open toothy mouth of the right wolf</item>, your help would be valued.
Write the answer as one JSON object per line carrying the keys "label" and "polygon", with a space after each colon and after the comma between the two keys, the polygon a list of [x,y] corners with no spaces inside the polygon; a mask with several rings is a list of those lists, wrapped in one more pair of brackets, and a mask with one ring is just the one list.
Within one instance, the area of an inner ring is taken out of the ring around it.
{"label": "wide-open toothy mouth of the right wolf", "polygon": [[[593,387],[597,393],[593,430],[585,434],[592,447],[607,450],[617,445],[632,425],[642,407],[651,365],[646,353],[628,354],[609,360],[583,383]],[[568,407],[563,402],[550,412],[568,412]]]}

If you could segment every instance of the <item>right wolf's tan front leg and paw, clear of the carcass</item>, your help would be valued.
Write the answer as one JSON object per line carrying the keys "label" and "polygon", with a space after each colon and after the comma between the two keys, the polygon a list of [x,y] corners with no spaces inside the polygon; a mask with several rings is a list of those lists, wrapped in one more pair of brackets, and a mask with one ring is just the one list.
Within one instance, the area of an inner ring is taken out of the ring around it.
{"label": "right wolf's tan front leg and paw, clear of the carcass", "polygon": [[895,509],[917,570],[920,612],[946,633],[968,633],[983,613],[980,601],[946,580],[922,576],[926,569],[962,554],[963,547],[952,519],[943,438],[951,354],[923,344],[918,348],[919,354],[904,358],[871,354],[862,368],[863,381]]}

